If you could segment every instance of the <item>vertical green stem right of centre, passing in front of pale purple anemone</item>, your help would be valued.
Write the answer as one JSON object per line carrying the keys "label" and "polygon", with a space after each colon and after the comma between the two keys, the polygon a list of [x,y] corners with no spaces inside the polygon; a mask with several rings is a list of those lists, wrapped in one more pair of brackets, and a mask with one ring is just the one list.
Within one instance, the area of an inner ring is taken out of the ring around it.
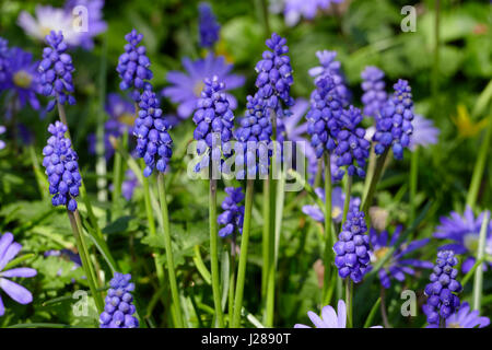
{"label": "vertical green stem right of centre, passing in front of pale purple anemone", "polygon": [[331,261],[333,260],[333,241],[331,240],[331,191],[330,155],[325,152],[325,276],[321,293],[323,305],[328,305],[331,299],[331,295],[328,293],[331,278]]}

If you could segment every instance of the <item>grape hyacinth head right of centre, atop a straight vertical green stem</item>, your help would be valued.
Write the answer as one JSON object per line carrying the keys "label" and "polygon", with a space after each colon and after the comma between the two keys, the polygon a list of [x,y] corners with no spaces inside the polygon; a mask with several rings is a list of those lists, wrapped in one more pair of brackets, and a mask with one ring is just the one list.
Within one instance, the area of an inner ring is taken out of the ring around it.
{"label": "grape hyacinth head right of centre, atop a straight vertical green stem", "polygon": [[336,140],[340,130],[342,102],[331,77],[320,77],[315,83],[316,90],[312,94],[311,109],[306,119],[311,145],[319,159],[325,151],[330,153],[337,148]]}

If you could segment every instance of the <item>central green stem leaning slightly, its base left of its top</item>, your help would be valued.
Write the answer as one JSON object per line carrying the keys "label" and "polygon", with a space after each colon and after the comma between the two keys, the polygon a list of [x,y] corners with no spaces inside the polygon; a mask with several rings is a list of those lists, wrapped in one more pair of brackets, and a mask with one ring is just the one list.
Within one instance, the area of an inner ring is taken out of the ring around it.
{"label": "central green stem leaning slightly, its base left of its top", "polygon": [[251,228],[251,209],[253,209],[253,191],[255,180],[247,179],[246,182],[246,199],[243,222],[243,235],[241,238],[239,266],[237,268],[236,295],[234,299],[234,317],[233,327],[241,326],[241,311],[243,308],[244,281],[246,277],[247,254],[249,244],[249,231]]}

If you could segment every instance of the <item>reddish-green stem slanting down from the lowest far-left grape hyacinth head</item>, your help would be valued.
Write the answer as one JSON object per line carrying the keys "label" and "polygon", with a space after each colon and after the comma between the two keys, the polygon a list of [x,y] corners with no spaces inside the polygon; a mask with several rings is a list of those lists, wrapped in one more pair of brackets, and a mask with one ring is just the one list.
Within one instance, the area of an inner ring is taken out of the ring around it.
{"label": "reddish-green stem slanting down from the lowest far-left grape hyacinth head", "polygon": [[97,312],[101,314],[104,311],[104,302],[101,293],[97,292],[97,283],[95,278],[94,268],[91,264],[91,259],[89,257],[87,247],[85,244],[85,238],[82,234],[79,224],[77,223],[77,219],[73,212],[67,210],[70,225],[72,226],[73,237],[75,238],[77,248],[79,250],[80,258],[82,260],[82,267],[84,269],[85,276],[87,278],[89,288],[91,290],[92,295],[94,296],[94,301],[97,307]]}

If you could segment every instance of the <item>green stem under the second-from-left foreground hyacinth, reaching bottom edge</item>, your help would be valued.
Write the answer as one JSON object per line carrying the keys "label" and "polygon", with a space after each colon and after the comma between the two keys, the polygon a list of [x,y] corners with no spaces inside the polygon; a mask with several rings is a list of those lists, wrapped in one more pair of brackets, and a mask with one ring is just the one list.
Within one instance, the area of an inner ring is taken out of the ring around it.
{"label": "green stem under the second-from-left foreground hyacinth, reaching bottom edge", "polygon": [[169,277],[171,295],[173,298],[173,304],[175,308],[176,324],[178,328],[183,328],[183,317],[181,307],[179,301],[179,293],[176,283],[176,272],[174,269],[174,258],[173,258],[173,247],[171,245],[171,225],[169,225],[169,214],[167,212],[167,200],[166,200],[166,188],[164,186],[164,174],[159,173],[157,175],[157,188],[159,188],[159,200],[161,203],[163,230],[164,230],[164,246],[166,250],[167,259],[167,276]]}

